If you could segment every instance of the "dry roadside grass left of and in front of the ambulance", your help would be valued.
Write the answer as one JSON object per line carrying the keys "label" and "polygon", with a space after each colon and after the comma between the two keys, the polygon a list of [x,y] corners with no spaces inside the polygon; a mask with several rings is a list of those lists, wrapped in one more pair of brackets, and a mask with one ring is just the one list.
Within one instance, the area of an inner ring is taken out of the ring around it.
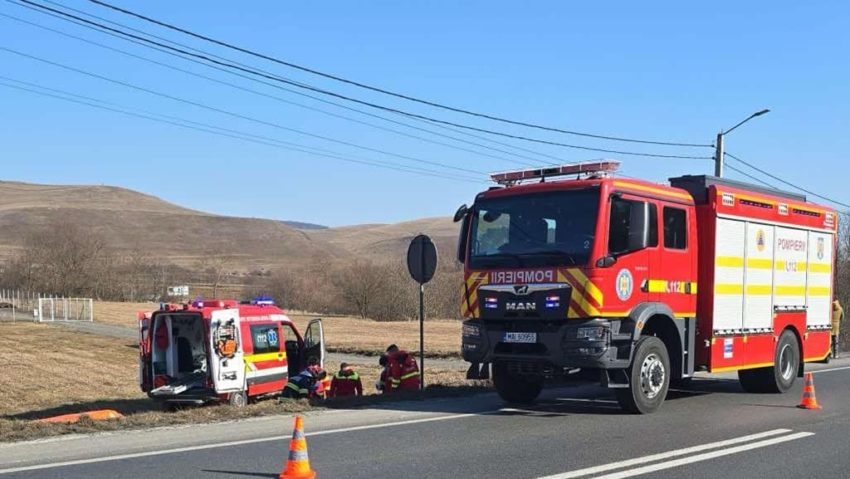
{"label": "dry roadside grass left of and in front of the ambulance", "polygon": [[[118,308],[120,309],[120,308]],[[104,309],[102,311],[106,311]],[[193,407],[160,412],[138,386],[138,349],[132,340],[80,333],[34,323],[0,323],[0,441],[56,434],[140,428],[282,414],[324,407],[356,407],[390,398],[375,396],[377,364],[354,364],[363,377],[363,399],[327,402],[268,399],[244,409]],[[330,372],[338,364],[326,365]],[[463,371],[427,371],[430,391],[424,398],[466,394],[482,385],[466,381]],[[420,397],[420,396],[414,396]],[[116,409],[124,419],[77,425],[49,425],[32,420],[93,409]]]}

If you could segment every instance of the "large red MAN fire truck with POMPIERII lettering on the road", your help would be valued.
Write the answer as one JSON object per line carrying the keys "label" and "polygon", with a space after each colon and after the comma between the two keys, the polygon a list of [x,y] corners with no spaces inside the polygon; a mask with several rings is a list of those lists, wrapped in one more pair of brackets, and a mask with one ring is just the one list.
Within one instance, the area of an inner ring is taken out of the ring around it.
{"label": "large red MAN fire truck with POMPIERII lettering on the road", "polygon": [[532,402],[580,370],[650,413],[695,371],[784,392],[826,358],[835,211],[711,176],[614,177],[618,165],[494,174],[455,216],[463,357],[492,364],[503,399]]}

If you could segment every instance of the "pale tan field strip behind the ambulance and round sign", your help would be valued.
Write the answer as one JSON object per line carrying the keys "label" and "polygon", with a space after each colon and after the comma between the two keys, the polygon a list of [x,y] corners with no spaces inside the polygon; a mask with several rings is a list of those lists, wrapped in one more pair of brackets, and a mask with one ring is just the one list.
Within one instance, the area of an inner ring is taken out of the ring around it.
{"label": "pale tan field strip behind the ambulance and round sign", "polygon": [[[98,301],[94,304],[95,321],[135,328],[136,312],[158,308],[155,303],[114,303]],[[316,318],[293,312],[290,318],[299,331]],[[325,339],[330,352],[377,355],[391,343],[401,348],[418,350],[419,323],[417,321],[377,322],[346,316],[323,318]],[[425,322],[425,350],[431,357],[458,357],[460,355],[461,323],[457,320],[430,320]]]}

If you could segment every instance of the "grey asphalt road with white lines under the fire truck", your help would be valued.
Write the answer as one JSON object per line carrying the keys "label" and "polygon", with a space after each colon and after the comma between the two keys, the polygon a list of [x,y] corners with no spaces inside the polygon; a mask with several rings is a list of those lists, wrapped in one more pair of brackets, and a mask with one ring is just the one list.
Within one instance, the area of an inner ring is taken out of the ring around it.
{"label": "grey asphalt road with white lines under the fire truck", "polygon": [[[850,360],[814,365],[820,411],[741,391],[734,376],[671,392],[656,414],[619,411],[596,387],[510,408],[493,394],[305,417],[319,478],[850,477]],[[15,478],[274,478],[291,418],[0,446]]]}

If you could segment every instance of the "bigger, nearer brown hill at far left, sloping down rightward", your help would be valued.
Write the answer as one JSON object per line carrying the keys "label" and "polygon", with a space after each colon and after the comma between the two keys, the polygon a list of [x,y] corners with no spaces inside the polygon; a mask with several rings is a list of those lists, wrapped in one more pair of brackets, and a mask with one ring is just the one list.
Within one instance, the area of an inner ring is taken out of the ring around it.
{"label": "bigger, nearer brown hill at far left, sloping down rightward", "polygon": [[320,240],[280,221],[213,215],[112,186],[0,182],[0,255],[31,234],[71,223],[118,250],[140,250],[190,266],[204,256],[231,257],[234,270],[273,268],[337,256]]}

